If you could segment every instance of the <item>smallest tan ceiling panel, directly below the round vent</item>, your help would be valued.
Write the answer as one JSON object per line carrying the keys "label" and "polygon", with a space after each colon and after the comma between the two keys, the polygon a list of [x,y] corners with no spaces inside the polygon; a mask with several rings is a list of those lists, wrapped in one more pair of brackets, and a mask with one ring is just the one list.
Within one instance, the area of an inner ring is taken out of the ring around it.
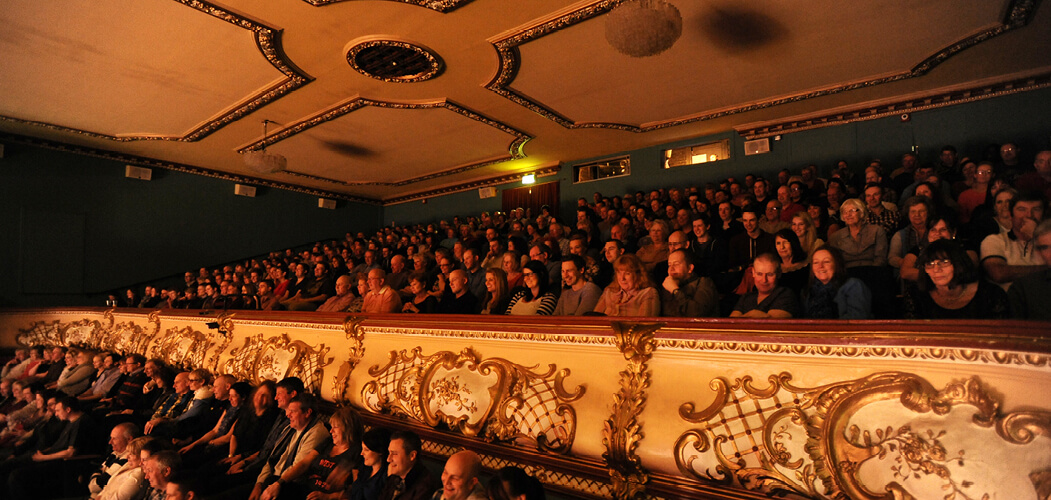
{"label": "smallest tan ceiling panel, directly below the round vent", "polygon": [[408,185],[510,160],[510,151],[524,139],[470,111],[442,107],[445,103],[409,105],[428,106],[417,109],[390,103],[355,108],[356,103],[335,108],[350,109],[312,127],[304,125],[314,120],[286,127],[283,131],[300,130],[286,139],[277,131],[279,140],[267,150],[285,155],[288,170],[301,174],[346,184]]}

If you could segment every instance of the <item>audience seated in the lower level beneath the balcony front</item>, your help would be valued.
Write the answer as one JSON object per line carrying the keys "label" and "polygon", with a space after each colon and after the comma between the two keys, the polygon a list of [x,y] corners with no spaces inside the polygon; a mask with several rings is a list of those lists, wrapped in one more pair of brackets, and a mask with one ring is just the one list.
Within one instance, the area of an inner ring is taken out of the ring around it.
{"label": "audience seated in the lower level beneath the balcony front", "polygon": [[[420,460],[418,436],[364,432],[347,407],[324,415],[298,378],[253,387],[139,354],[56,348],[40,361],[43,352],[19,350],[3,366],[0,498],[544,498],[540,482],[516,467],[486,487],[471,451],[436,474]],[[43,363],[60,375],[37,377],[50,371],[33,370]],[[82,372],[86,382],[61,384]]]}

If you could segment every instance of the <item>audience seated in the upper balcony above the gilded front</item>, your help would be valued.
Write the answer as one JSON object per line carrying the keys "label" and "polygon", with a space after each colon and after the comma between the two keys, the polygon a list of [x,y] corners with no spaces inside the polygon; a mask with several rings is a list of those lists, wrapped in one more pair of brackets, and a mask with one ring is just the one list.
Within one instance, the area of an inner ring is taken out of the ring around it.
{"label": "audience seated in the upper balcony above the gilded front", "polygon": [[[544,207],[348,233],[187,272],[178,290],[128,290],[126,305],[726,317],[774,297],[797,305],[776,317],[1049,319],[1049,150],[947,146],[931,163],[837,162],[827,179],[808,165],[596,192],[573,221]],[[774,284],[784,291],[763,291]]]}

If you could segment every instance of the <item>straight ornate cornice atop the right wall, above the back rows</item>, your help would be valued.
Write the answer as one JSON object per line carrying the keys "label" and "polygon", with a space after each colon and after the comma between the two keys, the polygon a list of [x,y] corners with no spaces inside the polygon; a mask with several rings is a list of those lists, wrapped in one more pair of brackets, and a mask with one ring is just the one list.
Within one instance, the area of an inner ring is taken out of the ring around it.
{"label": "straight ornate cornice atop the right wall, above the back rows", "polygon": [[744,124],[734,129],[746,140],[762,139],[782,133],[801,132],[815,128],[864,122],[903,113],[925,111],[940,107],[964,104],[983,99],[1009,96],[1051,87],[1051,71],[1013,78],[1007,81],[923,92],[905,99],[883,101],[862,106],[851,106],[832,112],[790,117],[782,120]]}

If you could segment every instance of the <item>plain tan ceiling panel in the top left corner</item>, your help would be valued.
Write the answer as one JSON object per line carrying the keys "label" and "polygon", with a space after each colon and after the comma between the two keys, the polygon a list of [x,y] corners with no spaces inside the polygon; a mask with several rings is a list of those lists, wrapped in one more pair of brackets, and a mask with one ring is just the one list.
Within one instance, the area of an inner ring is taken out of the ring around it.
{"label": "plain tan ceiling panel in the top left corner", "polygon": [[252,30],[170,0],[4,0],[0,25],[18,120],[178,138],[285,79]]}

